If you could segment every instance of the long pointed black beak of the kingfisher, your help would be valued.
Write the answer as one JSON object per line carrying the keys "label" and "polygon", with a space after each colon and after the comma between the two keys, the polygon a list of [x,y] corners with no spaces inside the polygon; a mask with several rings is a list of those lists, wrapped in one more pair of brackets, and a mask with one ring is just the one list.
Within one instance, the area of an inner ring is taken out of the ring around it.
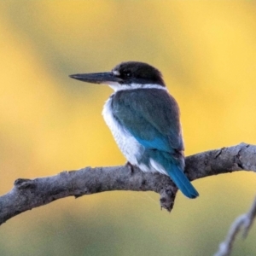
{"label": "long pointed black beak of the kingfisher", "polygon": [[69,76],[72,79],[78,79],[92,84],[108,84],[109,82],[120,82],[122,79],[114,76],[112,72],[105,73],[77,73]]}

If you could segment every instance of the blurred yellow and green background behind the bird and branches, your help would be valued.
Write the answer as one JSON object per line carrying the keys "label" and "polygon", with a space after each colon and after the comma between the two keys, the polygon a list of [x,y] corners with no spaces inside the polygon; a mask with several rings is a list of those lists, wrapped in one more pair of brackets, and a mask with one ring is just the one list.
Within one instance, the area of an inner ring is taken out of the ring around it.
{"label": "blurred yellow and green background behind the bird and branches", "polygon": [[[256,143],[254,1],[1,1],[0,193],[18,177],[125,163],[102,119],[108,86],[68,75],[158,67],[182,113],[185,154]],[[172,213],[151,192],[66,198],[10,219],[0,255],[212,255],[256,177],[193,182]],[[256,227],[232,255],[255,255]]]}

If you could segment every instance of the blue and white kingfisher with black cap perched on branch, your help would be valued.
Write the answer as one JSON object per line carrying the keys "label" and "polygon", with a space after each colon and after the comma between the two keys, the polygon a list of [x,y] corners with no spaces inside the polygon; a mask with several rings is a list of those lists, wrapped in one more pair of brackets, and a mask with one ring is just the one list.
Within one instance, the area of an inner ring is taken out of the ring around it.
{"label": "blue and white kingfisher with black cap perched on branch", "polygon": [[144,62],[121,62],[105,73],[70,75],[92,84],[108,84],[113,94],[102,115],[127,164],[143,172],[171,177],[189,198],[199,194],[184,174],[184,144],[179,108],[158,69]]}

